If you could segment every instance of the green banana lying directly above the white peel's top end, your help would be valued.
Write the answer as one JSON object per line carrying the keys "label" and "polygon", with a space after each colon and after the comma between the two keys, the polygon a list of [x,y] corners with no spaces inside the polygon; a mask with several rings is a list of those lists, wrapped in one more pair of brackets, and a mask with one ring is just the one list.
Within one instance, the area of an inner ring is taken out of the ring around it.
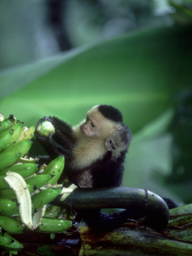
{"label": "green banana lying directly above the white peel's top end", "polygon": [[7,171],[16,172],[20,174],[24,179],[33,175],[38,171],[36,163],[17,163],[11,167],[8,167],[0,172],[1,175],[5,175]]}

